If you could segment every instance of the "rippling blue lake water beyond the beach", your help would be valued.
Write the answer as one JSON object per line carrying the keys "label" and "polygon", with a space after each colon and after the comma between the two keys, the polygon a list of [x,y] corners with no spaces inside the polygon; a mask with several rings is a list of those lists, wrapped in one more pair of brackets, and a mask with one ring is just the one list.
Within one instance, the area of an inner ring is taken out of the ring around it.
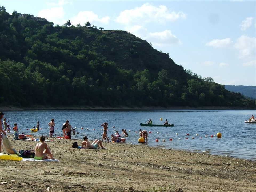
{"label": "rippling blue lake water beyond the beach", "polygon": [[[115,133],[112,126],[121,133],[122,129],[130,130],[129,136],[126,137],[127,143],[139,144],[139,134],[135,131],[145,129],[152,132],[148,135],[149,142],[139,145],[256,160],[256,125],[244,123],[251,114],[256,116],[255,110],[8,111],[4,113],[10,127],[16,122],[21,129],[19,133],[34,134],[35,137],[49,135],[47,124],[51,118],[54,118],[56,123],[54,136],[63,135],[61,126],[68,119],[73,128],[76,127],[76,132],[79,132],[72,135],[72,139],[82,139],[85,135],[89,140],[101,139],[103,133],[101,124],[106,121],[109,123],[107,135],[110,138],[110,135]],[[160,121],[160,118],[168,119],[174,127],[139,125],[145,123],[147,119],[152,119],[153,124],[163,124],[164,121]],[[31,133],[30,129],[36,126],[37,121],[40,122],[42,130]],[[218,132],[222,133],[222,138],[210,137]],[[197,133],[199,136],[196,136]],[[208,137],[206,138],[205,135]],[[195,138],[192,139],[192,136]],[[169,141],[170,138],[173,140]],[[159,141],[155,142],[155,139]],[[166,141],[163,142],[163,139]],[[14,147],[19,149],[18,146]]]}

